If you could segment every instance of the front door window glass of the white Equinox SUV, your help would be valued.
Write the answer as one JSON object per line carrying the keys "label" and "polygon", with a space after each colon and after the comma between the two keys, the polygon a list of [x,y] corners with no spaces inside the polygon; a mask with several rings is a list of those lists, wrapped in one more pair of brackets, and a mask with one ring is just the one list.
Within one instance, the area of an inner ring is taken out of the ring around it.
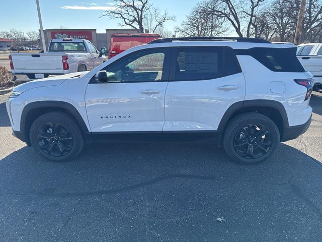
{"label": "front door window glass of the white Equinox SUV", "polygon": [[103,70],[115,82],[150,82],[162,79],[165,50],[152,49],[129,54]]}

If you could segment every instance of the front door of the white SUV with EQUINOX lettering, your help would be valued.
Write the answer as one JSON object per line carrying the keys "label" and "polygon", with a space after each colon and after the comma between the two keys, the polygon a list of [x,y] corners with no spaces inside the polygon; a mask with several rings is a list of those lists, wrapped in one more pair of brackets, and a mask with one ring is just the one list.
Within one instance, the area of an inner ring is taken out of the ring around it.
{"label": "front door of the white SUV with EQUINOX lettering", "polygon": [[130,53],[103,69],[108,83],[91,79],[85,98],[92,134],[162,132],[169,75],[167,52],[154,48]]}

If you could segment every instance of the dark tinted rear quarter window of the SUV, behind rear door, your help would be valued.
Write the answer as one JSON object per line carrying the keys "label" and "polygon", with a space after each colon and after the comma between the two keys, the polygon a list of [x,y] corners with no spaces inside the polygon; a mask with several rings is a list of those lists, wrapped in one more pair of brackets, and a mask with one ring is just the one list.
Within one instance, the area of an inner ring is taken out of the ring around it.
{"label": "dark tinted rear quarter window of the SUV, behind rear door", "polygon": [[257,61],[274,72],[305,72],[296,57],[296,47],[293,48],[251,48],[240,50],[237,54],[253,56]]}

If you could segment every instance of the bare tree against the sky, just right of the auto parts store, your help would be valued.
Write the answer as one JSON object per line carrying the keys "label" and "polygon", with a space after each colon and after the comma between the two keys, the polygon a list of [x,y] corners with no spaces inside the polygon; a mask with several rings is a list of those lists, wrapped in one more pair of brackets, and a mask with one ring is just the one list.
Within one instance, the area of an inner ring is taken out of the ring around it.
{"label": "bare tree against the sky, just right of the auto parts store", "polygon": [[175,16],[170,16],[168,11],[162,13],[158,8],[154,8],[148,0],[114,0],[114,3],[114,9],[105,10],[100,17],[120,19],[121,26],[130,26],[138,33],[144,33],[145,27],[154,33],[165,22],[176,19]]}

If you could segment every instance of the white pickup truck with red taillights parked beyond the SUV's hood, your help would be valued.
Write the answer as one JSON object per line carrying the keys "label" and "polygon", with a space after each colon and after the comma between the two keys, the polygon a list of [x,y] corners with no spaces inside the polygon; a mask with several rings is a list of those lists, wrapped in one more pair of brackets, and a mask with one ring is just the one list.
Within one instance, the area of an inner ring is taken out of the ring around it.
{"label": "white pickup truck with red taillights parked beyond the SUV's hood", "polygon": [[106,61],[105,48],[98,51],[85,39],[52,39],[47,53],[16,53],[9,55],[12,75],[39,79],[90,71]]}

